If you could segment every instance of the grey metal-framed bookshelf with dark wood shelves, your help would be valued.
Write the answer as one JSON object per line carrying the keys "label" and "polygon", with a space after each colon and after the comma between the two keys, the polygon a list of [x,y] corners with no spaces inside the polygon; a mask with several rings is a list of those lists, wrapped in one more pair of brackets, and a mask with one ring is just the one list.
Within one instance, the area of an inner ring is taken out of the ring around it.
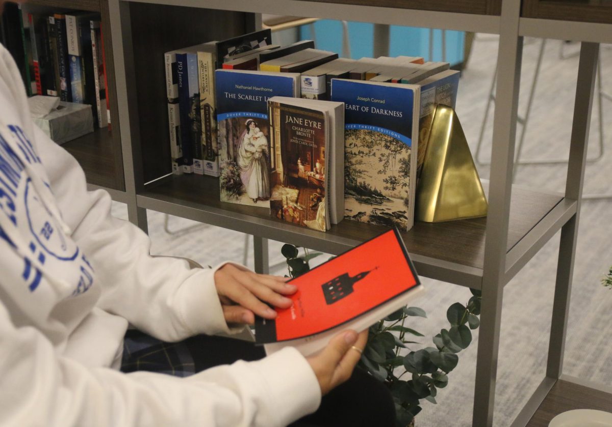
{"label": "grey metal-framed bookshelf with dark wood shelves", "polygon": [[[365,21],[499,34],[498,84],[487,219],[416,224],[403,233],[420,274],[482,290],[473,425],[493,425],[499,330],[504,286],[559,230],[558,274],[547,375],[513,426],[538,425],[540,415],[572,409],[550,401],[576,381],[562,378],[567,312],[572,283],[586,143],[599,43],[612,42],[610,14],[598,13],[603,2],[564,1],[570,15],[551,15],[543,5],[525,0],[34,0],[49,7],[100,10],[113,38],[109,86],[113,134],[98,132],[67,148],[86,169],[93,188],[110,189],[127,203],[130,221],[146,230],[146,209],[251,233],[256,239],[256,266],[265,266],[266,239],[274,238],[337,254],[380,228],[342,222],[328,233],[293,227],[269,218],[266,210],[218,201],[218,186],[207,177],[168,175],[167,116],[162,54],[215,38],[230,37],[261,26],[260,13]],[[537,10],[530,4],[538,4]],[[599,6],[598,6],[599,5]],[[383,7],[379,7],[383,6]],[[540,7],[542,6],[542,7]],[[607,7],[607,5],[606,5]],[[535,12],[534,12],[535,10]],[[606,15],[593,20],[592,15]],[[595,22],[595,23],[594,23]],[[154,29],[155,31],[151,31]],[[106,36],[110,38],[110,33]],[[583,42],[578,70],[571,148],[565,193],[542,194],[512,185],[523,36]],[[109,55],[110,53],[110,55]],[[115,90],[116,89],[116,90]],[[121,125],[121,126],[119,126]],[[560,379],[561,378],[561,379]],[[572,389],[573,387],[573,389]],[[585,387],[586,388],[586,387]],[[589,400],[601,398],[593,387]],[[606,396],[603,395],[605,398]],[[544,412],[542,412],[544,411]],[[540,414],[540,415],[539,415]]]}

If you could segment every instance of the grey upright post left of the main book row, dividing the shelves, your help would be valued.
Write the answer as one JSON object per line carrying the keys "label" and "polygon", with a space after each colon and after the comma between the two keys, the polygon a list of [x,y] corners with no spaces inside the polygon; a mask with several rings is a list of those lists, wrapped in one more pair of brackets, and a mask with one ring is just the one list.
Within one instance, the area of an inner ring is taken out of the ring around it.
{"label": "grey upright post left of the main book row, dividing the shelves", "polygon": [[130,222],[147,233],[147,212],[136,204],[136,192],[144,188],[140,128],[138,127],[138,100],[136,99],[136,73],[132,44],[130,4],[121,0],[108,0],[111,32],[113,33],[113,59],[117,85],[121,151],[123,155],[127,214]]}

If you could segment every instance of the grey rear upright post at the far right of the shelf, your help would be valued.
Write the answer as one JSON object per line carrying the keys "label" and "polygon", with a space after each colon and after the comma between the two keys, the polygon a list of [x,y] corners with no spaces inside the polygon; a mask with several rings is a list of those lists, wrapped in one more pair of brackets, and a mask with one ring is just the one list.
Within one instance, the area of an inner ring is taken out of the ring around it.
{"label": "grey rear upright post at the far right of the shelf", "polygon": [[557,278],[554,288],[553,316],[548,345],[548,364],[546,376],[558,379],[563,368],[565,350],[565,330],[570,306],[572,289],[573,265],[578,237],[578,219],[584,183],[586,150],[591,128],[591,107],[595,87],[595,71],[599,59],[599,43],[583,42],[580,47],[580,62],[578,64],[578,81],[576,84],[576,99],[574,103],[572,136],[570,139],[569,164],[567,165],[567,181],[565,197],[577,200],[577,211],[563,228],[559,244],[559,259]]}

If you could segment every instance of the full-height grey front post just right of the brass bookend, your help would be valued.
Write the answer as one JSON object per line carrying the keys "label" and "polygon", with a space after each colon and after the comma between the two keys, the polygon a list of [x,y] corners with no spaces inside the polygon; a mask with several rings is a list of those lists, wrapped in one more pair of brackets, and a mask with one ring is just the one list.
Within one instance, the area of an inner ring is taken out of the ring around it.
{"label": "full-height grey front post just right of the brass bookend", "polygon": [[482,277],[482,308],[476,360],[472,425],[493,425],[504,275],[517,133],[523,38],[518,35],[520,0],[502,2],[498,82],[493,119],[489,210]]}

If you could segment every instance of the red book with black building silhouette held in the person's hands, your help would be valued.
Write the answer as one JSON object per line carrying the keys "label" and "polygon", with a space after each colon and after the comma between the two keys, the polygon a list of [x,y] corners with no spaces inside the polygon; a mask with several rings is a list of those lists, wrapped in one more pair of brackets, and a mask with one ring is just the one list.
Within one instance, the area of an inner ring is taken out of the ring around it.
{"label": "red book with black building silhouette held in the person's hands", "polygon": [[313,354],[341,330],[367,329],[422,291],[397,227],[289,283],[297,286],[293,305],[255,321],[256,343],[267,354],[286,346]]}

